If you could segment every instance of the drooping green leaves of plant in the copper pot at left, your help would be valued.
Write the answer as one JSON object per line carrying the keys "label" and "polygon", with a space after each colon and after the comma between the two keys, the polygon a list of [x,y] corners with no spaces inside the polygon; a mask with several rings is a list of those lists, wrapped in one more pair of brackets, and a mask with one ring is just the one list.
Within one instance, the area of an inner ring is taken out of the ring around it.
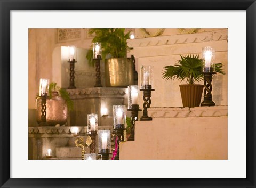
{"label": "drooping green leaves of plant in the copper pot at left", "polygon": [[71,111],[74,108],[74,102],[70,99],[68,92],[57,86],[57,83],[51,82],[49,84],[49,98],[52,98],[52,92],[58,92],[58,94],[66,101],[68,110]]}

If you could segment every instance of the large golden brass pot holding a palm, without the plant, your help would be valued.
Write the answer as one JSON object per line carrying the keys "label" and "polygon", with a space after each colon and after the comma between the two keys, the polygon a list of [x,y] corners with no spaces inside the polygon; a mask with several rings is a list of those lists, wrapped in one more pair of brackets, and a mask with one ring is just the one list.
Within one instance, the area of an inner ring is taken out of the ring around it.
{"label": "large golden brass pot holding a palm, without the plant", "polygon": [[105,59],[106,87],[127,87],[134,84],[134,63],[130,58]]}

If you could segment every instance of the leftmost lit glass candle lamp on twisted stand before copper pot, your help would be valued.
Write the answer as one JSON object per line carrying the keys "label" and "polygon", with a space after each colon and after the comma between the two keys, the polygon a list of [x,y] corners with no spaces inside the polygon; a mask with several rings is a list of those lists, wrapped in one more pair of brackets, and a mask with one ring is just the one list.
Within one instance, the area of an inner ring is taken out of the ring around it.
{"label": "leftmost lit glass candle lamp on twisted stand before copper pot", "polygon": [[41,78],[39,86],[39,97],[41,97],[41,122],[39,126],[47,126],[46,122],[46,99],[49,93],[49,79]]}

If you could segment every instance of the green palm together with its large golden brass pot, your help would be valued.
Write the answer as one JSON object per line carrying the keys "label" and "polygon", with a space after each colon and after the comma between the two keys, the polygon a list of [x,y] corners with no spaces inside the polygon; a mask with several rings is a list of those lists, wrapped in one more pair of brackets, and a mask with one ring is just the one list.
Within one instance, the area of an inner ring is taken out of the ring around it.
{"label": "green palm together with its large golden brass pot", "polygon": [[[91,28],[89,34],[94,35],[93,43],[101,43],[106,87],[133,85],[134,64],[126,57],[129,50],[126,40],[130,38],[130,32],[125,34],[125,28]],[[92,50],[87,52],[86,58],[90,65],[94,65]]]}

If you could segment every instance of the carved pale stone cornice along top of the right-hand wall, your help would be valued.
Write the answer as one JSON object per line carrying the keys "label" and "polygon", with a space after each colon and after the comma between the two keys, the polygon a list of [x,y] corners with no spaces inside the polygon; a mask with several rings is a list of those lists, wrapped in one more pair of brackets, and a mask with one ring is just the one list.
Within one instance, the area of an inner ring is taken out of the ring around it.
{"label": "carved pale stone cornice along top of the right-hand wall", "polygon": [[149,38],[128,39],[127,45],[134,47],[160,46],[171,44],[199,43],[208,41],[227,40],[228,30],[221,29],[211,32],[202,32],[196,34],[180,34],[169,36],[158,36]]}

